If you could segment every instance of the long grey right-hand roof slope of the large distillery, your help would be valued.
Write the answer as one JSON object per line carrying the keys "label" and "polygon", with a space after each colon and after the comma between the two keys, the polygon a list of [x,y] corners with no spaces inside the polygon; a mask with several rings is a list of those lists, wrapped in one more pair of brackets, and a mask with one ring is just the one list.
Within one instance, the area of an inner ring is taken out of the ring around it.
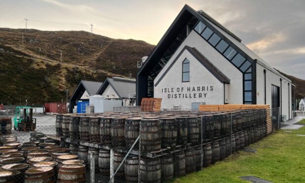
{"label": "long grey right-hand roof slope of the large distillery", "polygon": [[290,81],[290,79],[286,78],[279,72],[277,72],[272,66],[270,66],[266,61],[264,61],[262,58],[260,58],[258,55],[256,55],[252,50],[250,50],[248,47],[246,47],[240,38],[238,38],[236,35],[234,35],[232,32],[224,28],[220,23],[215,21],[211,16],[209,16],[206,12],[203,10],[197,11],[207,22],[209,22],[215,29],[217,29],[219,32],[221,32],[224,36],[226,36],[232,43],[234,43],[237,47],[239,47],[241,50],[244,51],[246,55],[248,55],[251,59],[257,60],[258,64],[268,68],[275,74],[279,75],[280,77],[286,79],[287,81]]}

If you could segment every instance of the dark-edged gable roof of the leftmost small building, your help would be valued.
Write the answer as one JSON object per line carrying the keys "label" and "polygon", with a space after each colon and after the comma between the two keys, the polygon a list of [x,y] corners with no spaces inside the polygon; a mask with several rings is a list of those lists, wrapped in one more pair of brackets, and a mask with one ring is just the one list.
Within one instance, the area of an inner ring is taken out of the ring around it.
{"label": "dark-edged gable roof of the leftmost small building", "polygon": [[81,97],[85,91],[87,91],[89,95],[94,95],[97,93],[102,84],[102,82],[81,80],[71,95],[71,99]]}

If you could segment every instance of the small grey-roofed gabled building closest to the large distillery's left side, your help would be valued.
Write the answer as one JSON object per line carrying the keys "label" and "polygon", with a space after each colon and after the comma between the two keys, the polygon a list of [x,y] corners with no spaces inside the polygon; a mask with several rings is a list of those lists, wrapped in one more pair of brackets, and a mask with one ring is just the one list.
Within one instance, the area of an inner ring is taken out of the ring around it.
{"label": "small grey-roofed gabled building closest to the large distillery's left side", "polygon": [[107,78],[97,94],[108,100],[122,100],[122,106],[135,104],[136,80],[113,77]]}

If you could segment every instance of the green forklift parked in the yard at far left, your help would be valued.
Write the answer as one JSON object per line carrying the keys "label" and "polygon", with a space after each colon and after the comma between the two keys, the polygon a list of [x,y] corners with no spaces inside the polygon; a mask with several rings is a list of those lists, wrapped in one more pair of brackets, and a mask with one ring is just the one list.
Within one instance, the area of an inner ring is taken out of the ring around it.
{"label": "green forklift parked in the yard at far left", "polygon": [[[23,114],[21,112],[23,111]],[[27,106],[16,107],[14,130],[35,131],[36,118],[33,118],[33,108]]]}

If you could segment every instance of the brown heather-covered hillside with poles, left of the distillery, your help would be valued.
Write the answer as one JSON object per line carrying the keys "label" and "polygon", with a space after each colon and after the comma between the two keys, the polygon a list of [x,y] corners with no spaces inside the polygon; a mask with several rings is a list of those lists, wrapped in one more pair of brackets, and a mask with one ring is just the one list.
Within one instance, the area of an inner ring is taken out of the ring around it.
{"label": "brown heather-covered hillside with poles, left of the distillery", "polygon": [[153,47],[85,31],[0,28],[0,103],[65,101],[82,79],[135,78],[137,61]]}

